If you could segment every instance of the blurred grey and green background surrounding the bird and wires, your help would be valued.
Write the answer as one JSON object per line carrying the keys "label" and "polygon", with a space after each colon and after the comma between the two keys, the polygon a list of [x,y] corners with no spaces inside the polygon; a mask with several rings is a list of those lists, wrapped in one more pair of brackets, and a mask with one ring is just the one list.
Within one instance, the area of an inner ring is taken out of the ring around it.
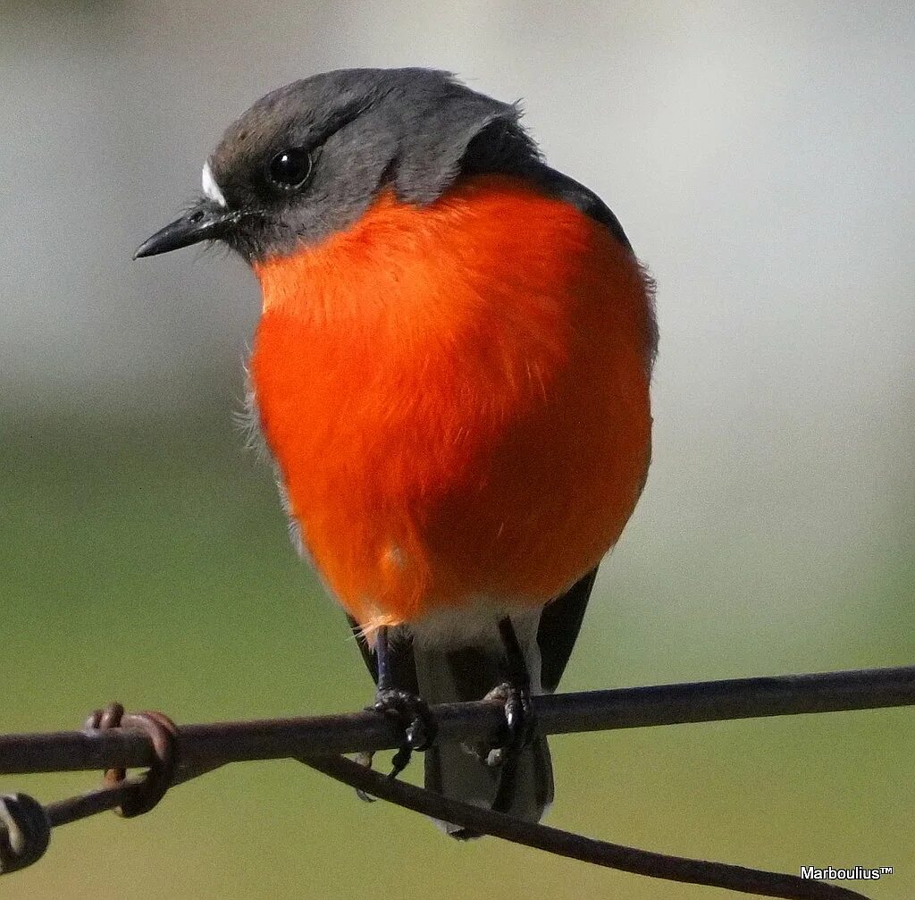
{"label": "blurred grey and green background surrounding the bird and wires", "polygon": [[[178,722],[359,708],[371,683],[242,449],[235,260],[132,264],[221,129],[317,70],[424,64],[523,97],[659,284],[648,489],[566,689],[915,657],[910,5],[0,7],[0,731],[109,699]],[[553,741],[549,821],[915,895],[911,710]],[[4,777],[51,800],[96,776]],[[705,898],[458,844],[292,763],[55,833],[12,898]]]}

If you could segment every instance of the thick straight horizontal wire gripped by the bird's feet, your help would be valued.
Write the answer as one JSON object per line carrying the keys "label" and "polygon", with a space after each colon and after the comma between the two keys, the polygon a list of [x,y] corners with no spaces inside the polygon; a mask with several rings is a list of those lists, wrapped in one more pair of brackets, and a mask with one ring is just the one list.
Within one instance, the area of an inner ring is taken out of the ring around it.
{"label": "thick straight horizontal wire gripped by the bird's feet", "polygon": [[[533,705],[544,734],[912,706],[915,666],[554,694],[534,698]],[[440,743],[491,740],[504,724],[500,704],[484,700],[442,704],[432,713]],[[375,712],[182,725],[179,771],[247,760],[369,753],[395,749],[400,742],[397,728]],[[155,763],[142,727],[0,734],[0,775]]]}

